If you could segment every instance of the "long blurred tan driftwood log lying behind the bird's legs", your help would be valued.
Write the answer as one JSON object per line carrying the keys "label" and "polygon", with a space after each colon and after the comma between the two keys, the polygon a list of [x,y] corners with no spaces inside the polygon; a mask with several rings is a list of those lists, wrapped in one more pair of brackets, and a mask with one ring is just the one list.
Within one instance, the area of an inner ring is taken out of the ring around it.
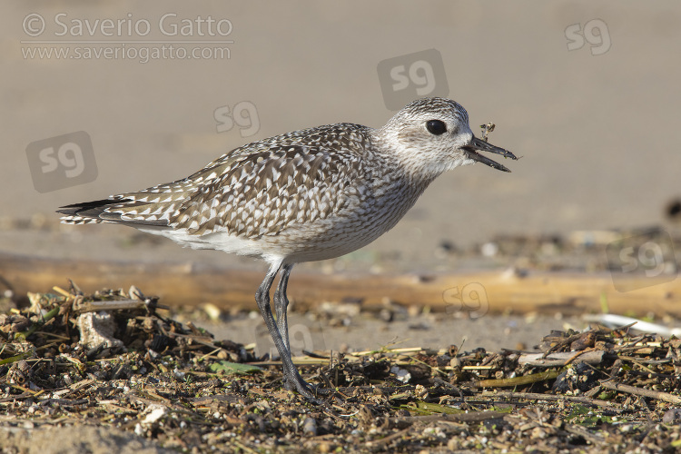
{"label": "long blurred tan driftwood log lying behind the bird's legs", "polygon": [[[253,295],[263,271],[217,269],[191,264],[52,260],[0,253],[0,289],[17,295],[51,291],[73,280],[86,292],[136,285],[169,306],[206,302],[223,308],[256,309]],[[421,274],[323,274],[298,271],[289,297],[306,309],[324,301],[361,301],[362,308],[386,301],[429,306],[433,311],[600,312],[681,315],[681,281],[632,277],[633,291],[617,291],[609,273],[568,274],[476,271]]]}

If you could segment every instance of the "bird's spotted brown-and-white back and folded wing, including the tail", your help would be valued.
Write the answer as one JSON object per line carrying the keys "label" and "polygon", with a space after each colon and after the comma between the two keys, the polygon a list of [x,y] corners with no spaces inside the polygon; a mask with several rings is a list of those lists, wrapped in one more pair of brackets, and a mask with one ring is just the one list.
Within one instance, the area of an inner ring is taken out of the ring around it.
{"label": "bird's spotted brown-and-white back and folded wing, including the tail", "polygon": [[[136,227],[276,234],[341,210],[360,177],[367,128],[333,124],[251,143],[173,183],[59,212],[67,223],[117,222]],[[303,221],[304,220],[304,221]]]}

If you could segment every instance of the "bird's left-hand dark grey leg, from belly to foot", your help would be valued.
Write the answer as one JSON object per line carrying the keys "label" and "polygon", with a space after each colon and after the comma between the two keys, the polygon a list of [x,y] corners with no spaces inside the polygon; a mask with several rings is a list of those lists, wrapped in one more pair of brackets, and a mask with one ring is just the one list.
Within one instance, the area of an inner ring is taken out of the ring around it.
{"label": "bird's left-hand dark grey leg, from belly to foot", "polygon": [[[293,360],[291,360],[291,351],[284,344],[284,341],[281,338],[281,333],[279,332],[277,324],[274,321],[274,317],[271,313],[270,289],[280,267],[281,263],[276,263],[271,266],[270,271],[267,271],[265,280],[262,281],[262,284],[260,284],[260,287],[258,287],[258,291],[255,292],[255,302],[258,303],[258,309],[260,310],[262,319],[264,319],[265,324],[267,325],[267,330],[270,331],[271,339],[274,341],[277,351],[279,351],[281,364],[283,365],[284,380],[286,380],[287,388],[292,386],[306,399],[315,403],[321,403],[321,400],[317,400],[312,395],[308,384],[305,382],[305,380],[302,380],[301,374],[298,373],[295,364],[293,364]],[[289,270],[289,272],[291,272],[291,270]]]}

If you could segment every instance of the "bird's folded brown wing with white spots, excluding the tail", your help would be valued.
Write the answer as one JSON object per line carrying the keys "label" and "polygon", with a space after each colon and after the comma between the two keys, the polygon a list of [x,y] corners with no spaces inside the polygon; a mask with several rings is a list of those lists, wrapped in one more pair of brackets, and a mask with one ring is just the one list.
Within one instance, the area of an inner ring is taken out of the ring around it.
{"label": "bird's folded brown wing with white spots, excluding the tail", "polygon": [[356,125],[334,126],[250,145],[239,159],[206,167],[200,188],[173,213],[171,226],[257,238],[339,212],[356,191],[351,183],[361,176],[367,139]]}

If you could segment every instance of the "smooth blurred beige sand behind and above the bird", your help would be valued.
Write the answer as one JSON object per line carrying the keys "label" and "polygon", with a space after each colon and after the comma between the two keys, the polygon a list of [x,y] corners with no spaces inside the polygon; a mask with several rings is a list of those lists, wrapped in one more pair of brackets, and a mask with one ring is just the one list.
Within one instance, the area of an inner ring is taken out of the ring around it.
{"label": "smooth blurred beige sand behind and above the bird", "polygon": [[[116,226],[49,232],[35,227],[55,222],[54,209],[61,205],[179,179],[234,147],[274,134],[336,122],[379,127],[393,113],[381,92],[378,64],[428,49],[441,55],[449,97],[469,111],[474,132],[481,123],[496,123],[490,142],[523,158],[505,162],[513,173],[476,165],[443,175],[398,227],[357,257],[370,261],[381,252],[420,268],[443,241],[467,245],[499,232],[664,225],[666,203],[681,192],[681,7],[673,1],[15,1],[0,9],[2,251],[243,262],[170,242],[156,244],[149,256],[121,247],[134,232]],[[232,31],[225,37],[170,37],[158,26],[169,13],[174,20],[168,24],[210,15],[228,19]],[[109,37],[101,29],[92,36],[86,29],[84,36],[60,36],[59,14],[69,27],[72,21],[123,19],[133,25],[148,21],[152,30],[145,36],[133,30],[131,36]],[[28,15],[44,19],[42,34],[26,33]],[[121,47],[86,41],[154,41],[160,44],[124,45],[158,47],[174,39],[233,43],[219,45],[229,48],[229,58],[145,64],[25,57],[26,49],[41,46],[73,52]],[[239,103],[255,108],[257,133],[248,130],[252,135],[242,137],[237,124],[219,133],[216,109],[232,111]],[[29,143],[78,131],[92,138],[94,182],[37,192],[27,163]]]}

